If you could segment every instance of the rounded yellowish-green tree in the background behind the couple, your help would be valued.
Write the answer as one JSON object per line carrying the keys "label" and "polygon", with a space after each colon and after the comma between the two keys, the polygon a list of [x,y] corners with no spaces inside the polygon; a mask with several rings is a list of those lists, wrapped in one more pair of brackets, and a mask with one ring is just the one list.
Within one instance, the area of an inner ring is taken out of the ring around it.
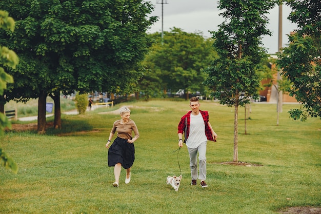
{"label": "rounded yellowish-green tree in the background behind the couple", "polygon": [[[159,91],[184,89],[187,99],[188,91],[206,90],[202,85],[206,74],[201,70],[217,56],[212,48],[212,39],[179,28],[164,32],[163,44],[159,32],[151,34],[151,37],[155,43],[146,56],[144,66],[152,71],[152,75],[159,77]],[[147,76],[144,78],[148,79]]]}

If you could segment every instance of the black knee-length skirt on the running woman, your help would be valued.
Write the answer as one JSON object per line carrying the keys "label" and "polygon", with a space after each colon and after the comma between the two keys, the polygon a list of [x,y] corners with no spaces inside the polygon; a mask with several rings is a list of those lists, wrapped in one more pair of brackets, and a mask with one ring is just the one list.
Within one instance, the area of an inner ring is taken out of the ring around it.
{"label": "black knee-length skirt on the running woman", "polygon": [[127,139],[116,138],[108,149],[108,166],[121,163],[124,169],[130,168],[135,160],[135,148]]}

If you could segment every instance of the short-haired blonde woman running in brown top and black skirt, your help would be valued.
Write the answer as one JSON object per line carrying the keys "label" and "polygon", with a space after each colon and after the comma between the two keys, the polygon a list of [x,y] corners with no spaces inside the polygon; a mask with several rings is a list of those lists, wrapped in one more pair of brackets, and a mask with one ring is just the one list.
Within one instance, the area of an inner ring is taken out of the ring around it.
{"label": "short-haired blonde woman running in brown top and black skirt", "polygon": [[[122,167],[126,169],[125,184],[130,182],[130,169],[135,160],[134,142],[139,138],[135,122],[129,119],[130,109],[122,107],[120,113],[122,119],[114,122],[106,144],[106,148],[109,148],[109,143],[117,131],[117,138],[108,150],[108,166],[114,166],[114,187],[119,186]],[[132,138],[133,131],[135,133],[134,138]]]}

